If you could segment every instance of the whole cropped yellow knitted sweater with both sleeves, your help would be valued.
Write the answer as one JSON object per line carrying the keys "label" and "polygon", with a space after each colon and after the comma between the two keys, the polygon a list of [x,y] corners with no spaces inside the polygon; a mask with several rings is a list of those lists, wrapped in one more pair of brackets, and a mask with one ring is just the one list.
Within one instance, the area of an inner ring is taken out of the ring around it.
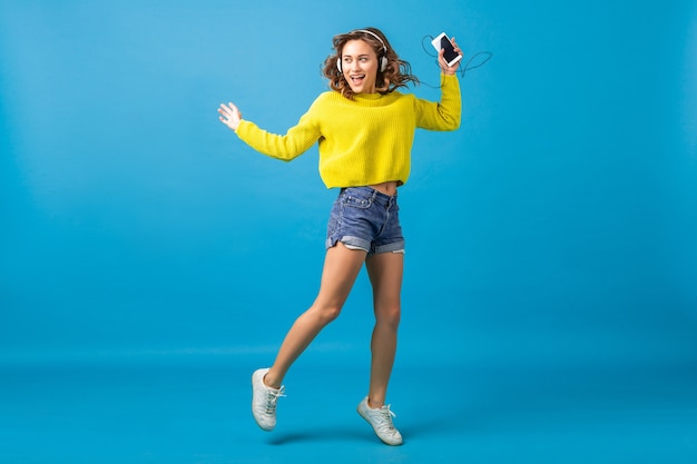
{"label": "whole cropped yellow knitted sweater with both sleeves", "polygon": [[279,136],[242,120],[237,136],[255,150],[289,161],[320,141],[320,176],[327,188],[406,182],[416,128],[460,127],[457,76],[442,76],[441,102],[410,93],[359,93],[354,100],[327,91],[298,124]]}

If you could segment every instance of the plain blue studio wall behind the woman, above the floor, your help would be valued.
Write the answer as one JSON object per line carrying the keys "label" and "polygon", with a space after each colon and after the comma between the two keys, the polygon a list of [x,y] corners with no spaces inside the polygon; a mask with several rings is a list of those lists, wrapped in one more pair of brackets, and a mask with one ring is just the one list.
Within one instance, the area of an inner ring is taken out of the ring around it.
{"label": "plain blue studio wall behind the woman, above the floor", "polygon": [[[1,0],[0,362],[273,353],[336,191],[316,147],[264,157],[216,109],[285,132],[367,26],[419,97],[430,37],[473,68],[400,188],[400,359],[694,361],[693,1]],[[362,275],[313,349],[351,356],[371,317]]]}

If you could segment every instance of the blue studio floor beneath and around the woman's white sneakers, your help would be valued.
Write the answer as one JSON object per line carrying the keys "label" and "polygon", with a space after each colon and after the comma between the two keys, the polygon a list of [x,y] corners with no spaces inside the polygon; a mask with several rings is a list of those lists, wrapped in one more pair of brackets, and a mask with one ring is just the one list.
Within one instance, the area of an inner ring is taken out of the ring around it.
{"label": "blue studio floor beneath and around the woman's white sneakers", "polygon": [[355,413],[365,366],[326,356],[298,362],[278,426],[258,430],[248,384],[267,357],[6,363],[0,462],[697,462],[690,363],[400,362],[390,401],[405,443],[390,447]]}

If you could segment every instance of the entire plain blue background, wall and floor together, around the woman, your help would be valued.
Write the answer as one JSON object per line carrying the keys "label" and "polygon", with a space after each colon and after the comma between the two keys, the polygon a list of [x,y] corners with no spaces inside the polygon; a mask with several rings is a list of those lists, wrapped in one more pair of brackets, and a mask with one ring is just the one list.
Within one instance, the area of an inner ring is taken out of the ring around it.
{"label": "entire plain blue background, wall and floor together, around the woman", "polygon": [[[423,98],[425,36],[493,52],[400,190],[399,450],[352,428],[365,276],[288,376],[291,424],[252,430],[336,192],[316,148],[263,157],[216,113],[284,132],[365,26]],[[0,461],[694,462],[696,57],[687,0],[0,0]]]}

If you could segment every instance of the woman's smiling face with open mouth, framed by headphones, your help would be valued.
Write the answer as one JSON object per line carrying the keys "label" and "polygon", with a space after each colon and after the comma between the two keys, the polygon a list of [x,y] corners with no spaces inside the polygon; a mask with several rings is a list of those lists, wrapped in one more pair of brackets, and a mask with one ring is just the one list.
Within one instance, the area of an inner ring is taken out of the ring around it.
{"label": "woman's smiling face with open mouth, framed by headphones", "polygon": [[363,40],[350,40],[341,51],[344,79],[354,93],[375,93],[377,56]]}

